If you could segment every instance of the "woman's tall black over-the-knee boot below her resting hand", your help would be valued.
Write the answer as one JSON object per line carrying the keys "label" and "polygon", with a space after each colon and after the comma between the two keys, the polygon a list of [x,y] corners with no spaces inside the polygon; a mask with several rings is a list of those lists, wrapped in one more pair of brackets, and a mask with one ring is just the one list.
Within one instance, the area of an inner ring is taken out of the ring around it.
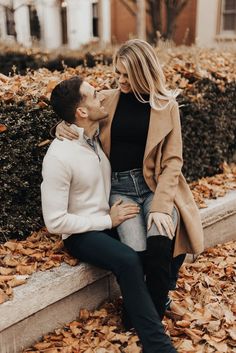
{"label": "woman's tall black over-the-knee boot below her resting hand", "polygon": [[171,260],[172,240],[163,235],[147,239],[146,284],[161,320],[168,300]]}

